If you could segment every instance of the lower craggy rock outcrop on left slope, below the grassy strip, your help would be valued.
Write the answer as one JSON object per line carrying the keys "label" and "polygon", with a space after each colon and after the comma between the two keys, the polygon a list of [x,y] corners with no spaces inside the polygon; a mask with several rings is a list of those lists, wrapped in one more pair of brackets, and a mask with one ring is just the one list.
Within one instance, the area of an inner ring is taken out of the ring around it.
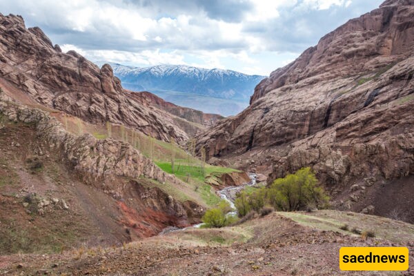
{"label": "lower craggy rock outcrop on left slope, below the grassy strip", "polygon": [[[81,136],[67,132],[57,119],[37,108],[13,103],[0,95],[0,113],[12,121],[36,126],[39,139],[59,150],[64,161],[84,182],[106,189],[117,176],[137,179],[141,176],[161,183],[182,184],[161,170],[130,144],[114,139],[99,140],[90,134]],[[112,184],[113,185],[113,184]],[[114,190],[117,187],[109,187]]]}

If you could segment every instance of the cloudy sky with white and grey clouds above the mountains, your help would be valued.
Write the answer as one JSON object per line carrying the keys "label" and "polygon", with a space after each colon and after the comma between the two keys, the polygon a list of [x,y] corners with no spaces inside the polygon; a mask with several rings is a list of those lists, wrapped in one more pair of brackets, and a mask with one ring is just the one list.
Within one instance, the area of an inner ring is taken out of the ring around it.
{"label": "cloudy sky with white and grey clouds above the mountains", "polygon": [[269,75],[382,0],[2,0],[62,50],[132,66]]}

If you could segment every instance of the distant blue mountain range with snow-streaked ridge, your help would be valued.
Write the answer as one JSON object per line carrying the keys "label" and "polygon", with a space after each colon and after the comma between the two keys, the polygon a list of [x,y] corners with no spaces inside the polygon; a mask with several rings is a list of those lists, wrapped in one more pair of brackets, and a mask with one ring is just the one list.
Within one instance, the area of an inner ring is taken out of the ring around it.
{"label": "distant blue mountain range with snow-streaked ridge", "polygon": [[[134,68],[110,64],[127,89],[148,90],[179,106],[224,116],[234,115],[245,108],[256,84],[264,78],[232,70],[192,66]],[[187,100],[189,96],[190,101]]]}

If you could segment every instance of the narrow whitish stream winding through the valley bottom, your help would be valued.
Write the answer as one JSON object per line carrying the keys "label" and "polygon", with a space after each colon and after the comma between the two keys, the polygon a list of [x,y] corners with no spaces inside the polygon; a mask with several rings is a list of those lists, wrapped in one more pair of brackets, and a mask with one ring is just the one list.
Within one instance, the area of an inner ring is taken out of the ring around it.
{"label": "narrow whitish stream winding through the valley bottom", "polygon": [[[234,202],[237,193],[240,190],[243,190],[247,186],[256,185],[257,175],[253,172],[249,172],[248,177],[250,177],[250,181],[248,181],[248,182],[246,182],[242,185],[229,186],[229,187],[224,188],[223,190],[217,190],[217,192],[216,192],[217,195],[219,195],[219,197],[221,197],[221,199],[226,200],[228,202],[228,204],[230,205],[230,207],[233,209],[232,211],[230,211],[226,214],[226,217],[237,215],[237,210],[236,210],[236,206],[235,206],[235,202]],[[175,231],[179,231],[179,230],[186,230],[186,229],[192,228],[192,227],[200,228],[203,224],[204,223],[194,224],[192,226],[188,226],[188,227],[185,227],[185,228],[178,228],[178,227],[170,226],[170,227],[164,228],[164,230],[162,230],[161,233],[159,233],[159,235],[163,235],[163,234],[166,234],[166,233],[171,233],[171,232],[175,232]]]}

